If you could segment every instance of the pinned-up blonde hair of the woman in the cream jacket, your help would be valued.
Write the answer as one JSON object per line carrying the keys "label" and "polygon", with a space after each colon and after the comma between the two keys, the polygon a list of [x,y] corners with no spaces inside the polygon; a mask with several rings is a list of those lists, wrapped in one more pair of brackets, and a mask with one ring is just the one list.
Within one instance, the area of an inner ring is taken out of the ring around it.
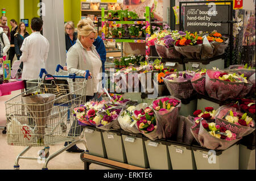
{"label": "pinned-up blonde hair of the woman in the cream jacket", "polygon": [[[92,22],[92,20],[90,20]],[[81,36],[89,36],[90,33],[95,33],[95,37],[98,36],[97,31],[92,27],[93,22],[89,22],[88,18],[81,19],[77,24],[77,32],[78,32],[78,39],[81,39]]]}

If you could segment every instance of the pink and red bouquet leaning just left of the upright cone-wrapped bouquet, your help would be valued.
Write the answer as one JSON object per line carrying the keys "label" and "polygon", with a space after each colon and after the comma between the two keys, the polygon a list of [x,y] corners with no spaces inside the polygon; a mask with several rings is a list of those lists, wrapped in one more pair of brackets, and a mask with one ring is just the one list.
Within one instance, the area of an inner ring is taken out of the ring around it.
{"label": "pink and red bouquet leaning just left of the upright cone-wrapped bouquet", "polygon": [[137,121],[135,125],[150,140],[161,139],[163,137],[162,125],[156,120],[153,110],[147,106],[147,103],[142,103],[135,108],[133,114]]}

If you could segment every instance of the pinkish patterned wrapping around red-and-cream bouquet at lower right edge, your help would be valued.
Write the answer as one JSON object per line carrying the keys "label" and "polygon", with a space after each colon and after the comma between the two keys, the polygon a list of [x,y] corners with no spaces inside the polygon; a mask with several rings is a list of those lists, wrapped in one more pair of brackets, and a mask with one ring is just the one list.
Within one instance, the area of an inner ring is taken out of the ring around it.
{"label": "pinkish patterned wrapping around red-and-cream bouquet at lower right edge", "polygon": [[238,111],[236,108],[234,107],[228,107],[228,106],[221,106],[220,108],[218,108],[217,113],[216,113],[216,124],[221,125],[222,127],[225,127],[226,129],[229,129],[230,131],[232,131],[233,133],[237,134],[237,138],[241,138],[243,136],[247,136],[248,134],[252,133],[255,130],[255,122],[253,121],[253,128],[252,127],[247,127],[247,126],[243,126],[243,125],[237,125],[234,123],[230,123],[229,121],[226,121],[224,119],[222,119],[223,116],[226,115],[226,113],[228,113],[230,110],[232,110],[233,112],[237,112],[239,113],[241,116],[243,115],[242,112]]}

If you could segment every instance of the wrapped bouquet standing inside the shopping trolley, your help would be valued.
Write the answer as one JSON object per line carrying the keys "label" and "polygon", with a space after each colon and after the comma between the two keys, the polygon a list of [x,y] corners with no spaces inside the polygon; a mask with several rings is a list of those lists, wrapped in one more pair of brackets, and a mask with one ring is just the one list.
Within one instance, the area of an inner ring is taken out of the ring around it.
{"label": "wrapped bouquet standing inside the shopping trolley", "polygon": [[55,94],[26,94],[22,96],[23,103],[35,120],[35,134],[38,134],[38,144],[44,144],[46,124],[51,114]]}

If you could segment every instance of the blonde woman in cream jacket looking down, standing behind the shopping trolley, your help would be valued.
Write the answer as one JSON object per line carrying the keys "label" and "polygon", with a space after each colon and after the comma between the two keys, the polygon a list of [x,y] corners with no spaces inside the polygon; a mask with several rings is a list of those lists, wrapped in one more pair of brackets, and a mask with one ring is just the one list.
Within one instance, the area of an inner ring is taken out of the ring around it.
{"label": "blonde woman in cream jacket looking down, standing behind the shopping trolley", "polygon": [[[100,83],[101,59],[97,53],[96,48],[93,45],[94,39],[97,37],[97,31],[90,26],[90,24],[80,20],[77,24],[78,39],[76,44],[71,47],[67,53],[67,67],[68,73],[75,73],[77,76],[84,76],[86,70],[90,71],[92,78],[86,82],[86,102],[93,99],[94,97],[100,97],[102,85]],[[81,79],[81,81],[84,81]],[[82,92],[84,93],[84,92]],[[78,121],[74,120],[69,131],[69,135],[81,134],[82,128],[78,125]],[[69,142],[70,144],[70,142]],[[68,142],[65,142],[64,146],[67,146]],[[67,151],[81,153],[84,150],[77,148],[76,145],[69,148]]]}

